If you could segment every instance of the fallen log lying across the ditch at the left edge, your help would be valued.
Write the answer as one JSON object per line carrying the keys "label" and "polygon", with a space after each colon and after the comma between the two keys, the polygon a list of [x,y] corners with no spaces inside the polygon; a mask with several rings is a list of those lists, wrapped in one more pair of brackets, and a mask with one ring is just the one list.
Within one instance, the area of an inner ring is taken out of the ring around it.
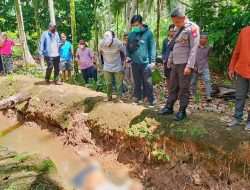
{"label": "fallen log lying across the ditch at the left edge", "polygon": [[0,101],[0,111],[7,108],[12,108],[16,104],[28,101],[30,98],[30,95],[27,93],[18,93],[10,96],[9,98],[3,99]]}

